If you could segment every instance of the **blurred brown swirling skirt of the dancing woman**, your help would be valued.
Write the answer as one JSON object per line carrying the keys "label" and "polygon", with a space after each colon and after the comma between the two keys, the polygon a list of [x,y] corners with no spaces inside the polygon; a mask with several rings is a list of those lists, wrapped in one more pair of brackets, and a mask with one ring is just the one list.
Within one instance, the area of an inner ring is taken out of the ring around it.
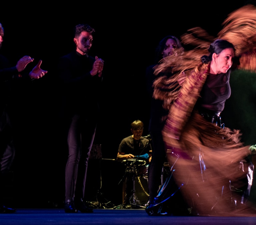
{"label": "blurred brown swirling skirt of the dancing woman", "polygon": [[199,216],[256,216],[247,201],[253,164],[238,130],[220,128],[193,112],[180,139],[163,130],[167,158],[188,210]]}

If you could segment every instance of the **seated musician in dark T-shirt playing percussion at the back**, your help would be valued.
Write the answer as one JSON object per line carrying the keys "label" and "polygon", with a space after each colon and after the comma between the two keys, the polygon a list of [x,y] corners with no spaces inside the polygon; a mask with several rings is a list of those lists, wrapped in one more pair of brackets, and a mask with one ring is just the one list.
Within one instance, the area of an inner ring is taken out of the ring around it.
{"label": "seated musician in dark T-shirt playing percussion at the back", "polygon": [[[152,148],[147,138],[142,137],[143,122],[135,120],[131,123],[132,135],[124,138],[118,148],[117,161],[126,162],[128,169],[134,163],[137,168],[141,165],[149,164],[152,156]],[[135,162],[136,160],[136,162]],[[131,161],[131,162],[130,162]],[[134,172],[134,171],[133,171]],[[135,171],[136,172],[136,171]],[[133,173],[126,171],[126,204],[131,203],[130,197],[133,194],[132,176]]]}

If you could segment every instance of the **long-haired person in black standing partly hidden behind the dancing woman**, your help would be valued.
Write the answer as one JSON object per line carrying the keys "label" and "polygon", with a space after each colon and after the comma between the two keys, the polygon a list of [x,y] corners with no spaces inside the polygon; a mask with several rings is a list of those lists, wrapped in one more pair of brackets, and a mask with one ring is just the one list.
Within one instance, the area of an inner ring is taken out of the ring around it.
{"label": "long-haired person in black standing partly hidden behind the dancing woman", "polygon": [[172,76],[172,73],[154,74],[154,67],[161,63],[161,59],[175,53],[177,49],[182,49],[179,39],[175,36],[166,36],[158,44],[155,53],[155,64],[146,68],[147,91],[151,98],[151,115],[149,122],[149,133],[152,141],[152,159],[148,167],[148,186],[149,186],[149,202],[157,195],[161,186],[161,173],[166,159],[166,148],[162,137],[162,129],[165,124],[165,118],[168,110],[163,108],[163,101],[153,98],[153,82],[159,76]]}

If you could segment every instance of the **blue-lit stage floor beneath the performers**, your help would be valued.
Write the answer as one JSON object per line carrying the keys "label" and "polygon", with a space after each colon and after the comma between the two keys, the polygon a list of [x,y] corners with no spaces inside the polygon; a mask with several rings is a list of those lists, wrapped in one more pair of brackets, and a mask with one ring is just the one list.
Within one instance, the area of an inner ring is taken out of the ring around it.
{"label": "blue-lit stage floor beneath the performers", "polygon": [[[256,215],[255,215],[256,216]],[[253,225],[256,217],[149,216],[145,209],[94,209],[93,213],[65,213],[64,209],[17,209],[0,214],[0,224],[232,224]]]}

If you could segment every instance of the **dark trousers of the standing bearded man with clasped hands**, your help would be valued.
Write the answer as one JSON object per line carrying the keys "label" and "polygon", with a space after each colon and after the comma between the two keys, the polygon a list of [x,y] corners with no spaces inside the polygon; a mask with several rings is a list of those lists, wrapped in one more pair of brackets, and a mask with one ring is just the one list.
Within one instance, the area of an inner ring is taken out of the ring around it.
{"label": "dark trousers of the standing bearded man with clasped hands", "polygon": [[75,114],[68,129],[65,202],[84,197],[87,166],[96,132],[96,118]]}

